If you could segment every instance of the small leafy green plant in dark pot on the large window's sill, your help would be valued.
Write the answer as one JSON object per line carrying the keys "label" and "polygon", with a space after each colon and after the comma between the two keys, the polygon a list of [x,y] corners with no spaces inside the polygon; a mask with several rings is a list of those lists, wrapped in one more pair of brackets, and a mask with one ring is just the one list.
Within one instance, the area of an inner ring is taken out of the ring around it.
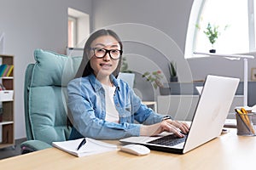
{"label": "small leafy green plant in dark pot on the large window's sill", "polygon": [[[201,26],[196,25],[196,27],[200,30]],[[224,26],[224,31],[228,26]],[[212,49],[209,50],[210,53],[216,53],[216,49],[214,48],[214,43],[217,41],[218,37],[220,36],[221,32],[219,31],[219,26],[212,25],[208,22],[206,29],[203,31],[204,34],[207,36],[209,42],[212,44]]]}

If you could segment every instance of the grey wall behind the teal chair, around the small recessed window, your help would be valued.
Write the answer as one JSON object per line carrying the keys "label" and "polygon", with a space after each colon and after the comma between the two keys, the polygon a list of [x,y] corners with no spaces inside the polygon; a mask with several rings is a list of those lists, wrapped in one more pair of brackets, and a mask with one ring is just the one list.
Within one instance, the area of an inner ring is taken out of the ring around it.
{"label": "grey wall behind the teal chair, around the small recessed window", "polygon": [[91,0],[0,0],[0,31],[5,53],[15,55],[15,139],[26,137],[23,88],[26,65],[35,48],[64,54],[67,8],[91,14]]}

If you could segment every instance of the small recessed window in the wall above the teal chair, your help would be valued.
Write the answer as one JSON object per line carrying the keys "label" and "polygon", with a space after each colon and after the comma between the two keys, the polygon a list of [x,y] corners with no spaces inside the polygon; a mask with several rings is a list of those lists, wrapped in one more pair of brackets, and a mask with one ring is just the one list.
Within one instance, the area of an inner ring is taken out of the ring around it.
{"label": "small recessed window in the wall above the teal chair", "polygon": [[68,8],[67,37],[68,48],[84,48],[85,39],[90,34],[89,14]]}

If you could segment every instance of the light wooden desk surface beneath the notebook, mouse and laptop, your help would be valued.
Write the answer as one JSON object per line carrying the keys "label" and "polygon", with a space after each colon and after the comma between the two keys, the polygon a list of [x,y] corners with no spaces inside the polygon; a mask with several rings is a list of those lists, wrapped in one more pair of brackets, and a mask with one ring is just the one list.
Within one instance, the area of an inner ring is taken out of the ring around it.
{"label": "light wooden desk surface beneath the notebook, mouse and laptop", "polygon": [[[51,148],[0,161],[1,169],[255,169],[256,137],[236,135],[230,129],[184,155],[151,150],[148,156],[111,151],[76,157]],[[252,168],[253,167],[253,168]]]}

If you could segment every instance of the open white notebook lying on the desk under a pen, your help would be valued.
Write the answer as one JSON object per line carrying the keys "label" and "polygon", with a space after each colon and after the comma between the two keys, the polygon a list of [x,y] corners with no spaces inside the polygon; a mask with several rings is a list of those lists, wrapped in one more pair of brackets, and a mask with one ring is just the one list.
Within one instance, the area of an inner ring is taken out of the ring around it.
{"label": "open white notebook lying on the desk under a pen", "polygon": [[85,143],[79,148],[79,145],[84,140],[82,139],[74,139],[74,140],[67,140],[62,142],[53,142],[52,145],[55,148],[60,150],[66,151],[73,156],[90,156],[94,154],[99,154],[102,152],[113,151],[117,150],[117,145],[115,144],[108,144],[96,139],[85,138]]}

